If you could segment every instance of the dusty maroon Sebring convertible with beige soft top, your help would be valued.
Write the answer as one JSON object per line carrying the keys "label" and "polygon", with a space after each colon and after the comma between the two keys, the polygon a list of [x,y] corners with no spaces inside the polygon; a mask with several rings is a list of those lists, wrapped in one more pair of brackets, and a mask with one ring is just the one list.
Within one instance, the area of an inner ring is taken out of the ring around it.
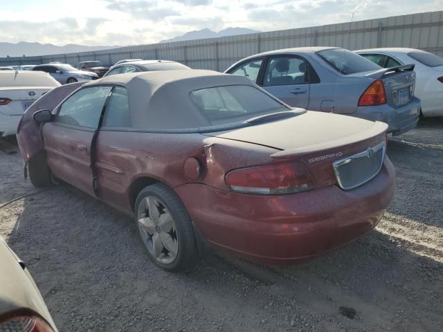
{"label": "dusty maroon Sebring convertible with beige soft top", "polygon": [[111,75],[60,86],[22,118],[25,174],[131,216],[165,270],[206,244],[291,264],[374,228],[394,190],[383,122],[292,109],[246,77]]}

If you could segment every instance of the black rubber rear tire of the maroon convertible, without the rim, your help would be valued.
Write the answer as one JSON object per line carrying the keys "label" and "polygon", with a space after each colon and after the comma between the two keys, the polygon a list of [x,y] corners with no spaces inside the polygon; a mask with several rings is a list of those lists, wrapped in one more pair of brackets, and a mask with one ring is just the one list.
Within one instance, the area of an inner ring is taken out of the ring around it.
{"label": "black rubber rear tire of the maroon convertible, without the rim", "polygon": [[[178,250],[177,256],[174,260],[168,264],[163,264],[161,261],[156,259],[150,249],[147,247],[148,244],[143,240],[142,230],[139,228],[138,223],[138,211],[142,201],[147,197],[154,197],[159,201],[168,212],[172,215],[175,228],[177,230],[178,239]],[[180,272],[183,270],[188,270],[195,266],[197,259],[199,258],[197,242],[195,241],[194,231],[192,229],[192,223],[188,211],[186,211],[185,206],[169,187],[163,185],[163,183],[154,183],[153,185],[148,185],[143,189],[140,194],[138,194],[136,203],[134,206],[134,221],[136,223],[137,230],[141,234],[142,241],[147,249],[147,254],[150,259],[156,264],[167,270],[169,272]]]}

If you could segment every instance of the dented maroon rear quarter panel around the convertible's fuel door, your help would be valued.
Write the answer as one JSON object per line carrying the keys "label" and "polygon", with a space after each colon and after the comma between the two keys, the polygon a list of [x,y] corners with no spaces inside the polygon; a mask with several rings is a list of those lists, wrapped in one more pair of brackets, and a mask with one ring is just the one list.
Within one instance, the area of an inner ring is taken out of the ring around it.
{"label": "dented maroon rear quarter panel around the convertible's fuel door", "polygon": [[[152,178],[171,188],[206,183],[226,191],[226,172],[269,163],[275,151],[278,150],[199,133],[102,130],[96,161],[100,199],[132,214],[131,190],[138,178]],[[197,178],[186,177],[184,163],[188,158],[199,161],[201,175]]]}

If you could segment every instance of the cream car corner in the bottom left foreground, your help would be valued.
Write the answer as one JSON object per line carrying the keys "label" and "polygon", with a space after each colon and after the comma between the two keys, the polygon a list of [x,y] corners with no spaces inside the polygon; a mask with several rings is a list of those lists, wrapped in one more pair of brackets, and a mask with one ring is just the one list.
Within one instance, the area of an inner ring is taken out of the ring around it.
{"label": "cream car corner in the bottom left foreground", "polygon": [[33,277],[0,237],[0,331],[57,332]]}

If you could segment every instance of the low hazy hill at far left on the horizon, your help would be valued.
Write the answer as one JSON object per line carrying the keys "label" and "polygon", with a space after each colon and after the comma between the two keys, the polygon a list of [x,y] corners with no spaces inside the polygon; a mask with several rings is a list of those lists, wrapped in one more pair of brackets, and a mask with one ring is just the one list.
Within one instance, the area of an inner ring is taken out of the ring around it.
{"label": "low hazy hill at far left on the horizon", "polygon": [[120,46],[84,46],[68,44],[65,46],[57,46],[53,44],[40,44],[40,43],[28,43],[18,42],[17,44],[0,42],[0,57],[21,57],[26,55],[30,57],[32,55],[49,55],[49,54],[62,54],[62,53],[77,53],[87,52],[92,50],[105,50],[109,48],[117,48]]}

